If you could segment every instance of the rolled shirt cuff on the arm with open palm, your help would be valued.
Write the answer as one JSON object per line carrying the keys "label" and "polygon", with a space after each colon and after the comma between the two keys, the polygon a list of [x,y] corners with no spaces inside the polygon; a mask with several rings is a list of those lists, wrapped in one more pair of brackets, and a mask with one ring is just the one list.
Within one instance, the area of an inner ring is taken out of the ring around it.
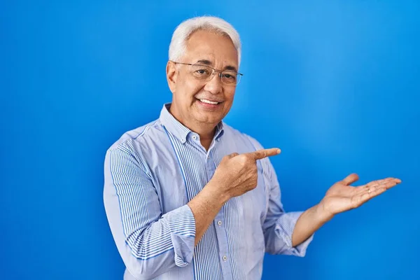
{"label": "rolled shirt cuff on the arm with open palm", "polygon": [[298,257],[304,257],[307,251],[309,243],[314,239],[314,234],[312,234],[308,239],[303,241],[301,244],[292,247],[292,235],[293,230],[295,230],[295,225],[297,219],[300,215],[303,214],[303,211],[299,212],[288,212],[280,216],[279,220],[276,222],[275,232],[284,243],[289,247],[290,255],[297,255]]}

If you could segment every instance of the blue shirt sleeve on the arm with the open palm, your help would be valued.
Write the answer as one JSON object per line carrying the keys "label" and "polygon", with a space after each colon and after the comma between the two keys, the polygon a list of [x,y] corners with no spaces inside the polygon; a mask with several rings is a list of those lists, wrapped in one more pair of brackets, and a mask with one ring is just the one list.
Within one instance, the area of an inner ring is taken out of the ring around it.
{"label": "blue shirt sleeve on the arm with the open palm", "polygon": [[[262,149],[262,145],[251,138],[255,150]],[[295,230],[297,219],[303,214],[303,211],[286,213],[281,203],[281,190],[279,180],[272,163],[268,158],[260,160],[263,169],[263,176],[268,183],[267,191],[269,192],[269,199],[267,205],[267,215],[262,224],[262,231],[265,237],[265,251],[267,253],[276,255],[296,255],[304,257],[307,247],[314,239],[311,235],[307,240],[301,244],[293,247],[292,235]]]}

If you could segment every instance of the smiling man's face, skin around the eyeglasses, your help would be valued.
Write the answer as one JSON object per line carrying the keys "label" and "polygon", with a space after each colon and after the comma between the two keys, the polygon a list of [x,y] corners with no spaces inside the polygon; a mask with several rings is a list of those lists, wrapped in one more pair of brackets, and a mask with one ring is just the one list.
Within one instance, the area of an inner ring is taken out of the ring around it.
{"label": "smiling man's face, skin around the eyeglasses", "polygon": [[[186,47],[186,54],[179,62],[207,65],[222,71],[238,71],[238,53],[228,36],[195,31]],[[173,93],[170,111],[186,126],[216,126],[232,107],[236,86],[222,83],[218,72],[211,80],[202,81],[193,76],[191,66],[168,62],[167,80]]]}

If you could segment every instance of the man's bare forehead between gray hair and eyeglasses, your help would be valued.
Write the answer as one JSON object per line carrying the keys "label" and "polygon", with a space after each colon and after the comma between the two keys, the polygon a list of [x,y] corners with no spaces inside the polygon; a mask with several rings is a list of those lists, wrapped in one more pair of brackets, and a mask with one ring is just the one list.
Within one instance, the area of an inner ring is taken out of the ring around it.
{"label": "man's bare forehead between gray hair and eyeglasses", "polygon": [[189,62],[205,59],[214,66],[238,66],[238,52],[232,40],[211,31],[195,31],[186,42],[185,57]]}

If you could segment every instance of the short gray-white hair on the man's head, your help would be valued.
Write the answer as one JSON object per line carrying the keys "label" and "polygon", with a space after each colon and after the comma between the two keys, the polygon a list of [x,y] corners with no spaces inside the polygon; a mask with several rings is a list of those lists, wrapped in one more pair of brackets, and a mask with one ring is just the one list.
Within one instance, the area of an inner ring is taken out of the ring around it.
{"label": "short gray-white hair on the man's head", "polygon": [[176,27],[169,45],[169,60],[178,61],[186,53],[186,41],[197,30],[207,30],[228,36],[238,52],[238,64],[241,63],[241,40],[238,32],[229,22],[216,17],[190,18]]}

